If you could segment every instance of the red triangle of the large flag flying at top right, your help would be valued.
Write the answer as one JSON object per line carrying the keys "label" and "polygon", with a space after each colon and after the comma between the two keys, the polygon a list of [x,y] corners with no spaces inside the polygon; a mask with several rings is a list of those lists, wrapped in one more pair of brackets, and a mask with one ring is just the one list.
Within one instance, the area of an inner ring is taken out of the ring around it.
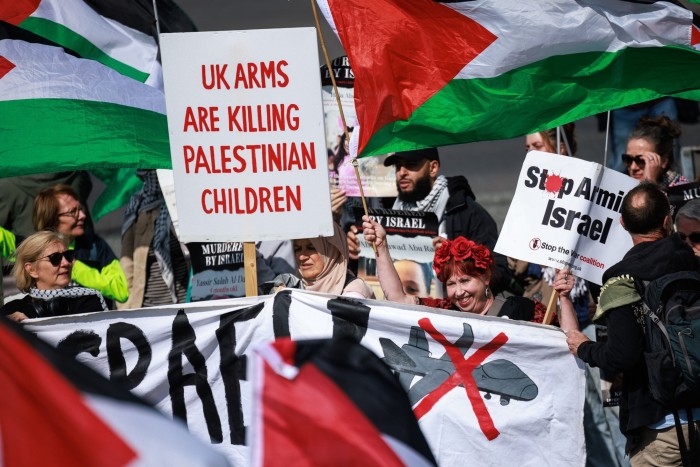
{"label": "red triangle of the large flag flying at top right", "polygon": [[355,74],[359,152],[407,119],[497,37],[433,0],[329,0]]}

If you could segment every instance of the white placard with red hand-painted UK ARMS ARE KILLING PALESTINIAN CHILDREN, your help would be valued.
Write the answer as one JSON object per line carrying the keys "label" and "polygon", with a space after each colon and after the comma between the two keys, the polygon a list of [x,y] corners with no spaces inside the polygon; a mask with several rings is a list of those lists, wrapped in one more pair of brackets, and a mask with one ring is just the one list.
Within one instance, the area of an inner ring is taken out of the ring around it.
{"label": "white placard with red hand-painted UK ARMS ARE KILLING PALESTINIAN CHILDREN", "polygon": [[315,29],[160,45],[180,240],[333,235]]}

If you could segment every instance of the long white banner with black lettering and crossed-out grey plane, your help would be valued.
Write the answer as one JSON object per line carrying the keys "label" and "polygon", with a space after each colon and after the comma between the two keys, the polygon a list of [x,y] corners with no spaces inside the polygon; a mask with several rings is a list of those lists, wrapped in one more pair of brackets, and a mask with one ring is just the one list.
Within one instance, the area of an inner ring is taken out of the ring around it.
{"label": "long white banner with black lettering and crossed-out grey plane", "polygon": [[333,336],[361,343],[396,373],[441,466],[585,461],[583,367],[551,326],[286,290],[25,327],[184,420],[236,465],[248,465],[246,435],[259,428],[246,365],[253,349]]}

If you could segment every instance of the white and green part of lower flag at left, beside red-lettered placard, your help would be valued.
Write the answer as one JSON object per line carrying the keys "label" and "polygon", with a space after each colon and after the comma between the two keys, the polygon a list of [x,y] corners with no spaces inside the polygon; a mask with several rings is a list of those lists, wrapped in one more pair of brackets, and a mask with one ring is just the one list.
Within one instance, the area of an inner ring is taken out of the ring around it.
{"label": "white and green part of lower flag at left, beside red-lettered placard", "polygon": [[59,47],[0,39],[3,176],[170,167],[162,91]]}

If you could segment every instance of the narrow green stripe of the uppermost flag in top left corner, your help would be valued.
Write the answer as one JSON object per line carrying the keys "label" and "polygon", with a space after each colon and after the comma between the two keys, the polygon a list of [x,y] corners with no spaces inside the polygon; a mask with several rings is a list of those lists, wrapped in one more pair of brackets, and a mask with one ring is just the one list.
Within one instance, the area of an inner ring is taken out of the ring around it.
{"label": "narrow green stripe of the uppermost flag in top left corner", "polygon": [[27,31],[45,37],[56,44],[74,51],[82,58],[89,58],[100,62],[124,76],[135,79],[136,81],[144,83],[148,79],[148,73],[140,71],[124,62],[120,62],[119,60],[110,57],[100,50],[100,48],[98,48],[95,44],[62,24],[58,24],[44,18],[29,17],[22,21],[19,26]]}

